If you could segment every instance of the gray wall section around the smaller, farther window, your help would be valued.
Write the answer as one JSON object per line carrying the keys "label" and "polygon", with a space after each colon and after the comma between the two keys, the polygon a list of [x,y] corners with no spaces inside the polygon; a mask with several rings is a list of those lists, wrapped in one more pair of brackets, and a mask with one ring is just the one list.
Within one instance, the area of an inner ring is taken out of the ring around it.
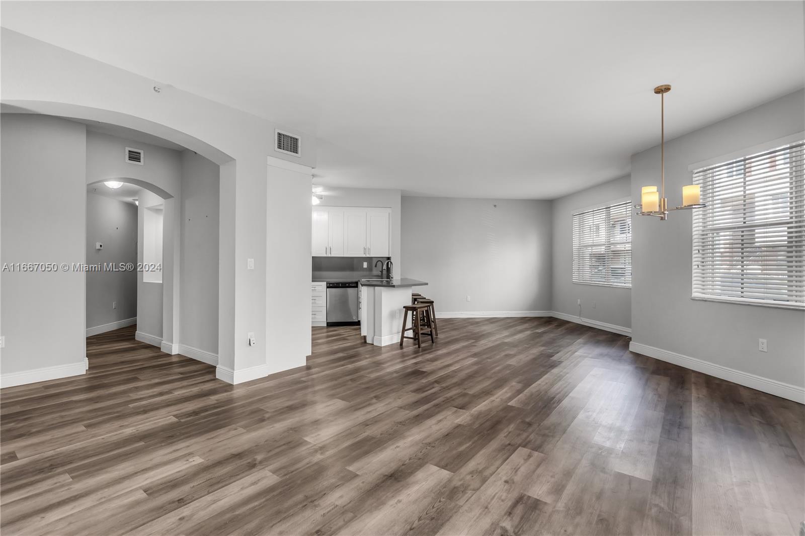
{"label": "gray wall section around the smaller, farther window", "polygon": [[626,176],[553,200],[552,311],[631,328],[631,289],[574,283],[572,272],[573,212],[629,196],[630,177]]}

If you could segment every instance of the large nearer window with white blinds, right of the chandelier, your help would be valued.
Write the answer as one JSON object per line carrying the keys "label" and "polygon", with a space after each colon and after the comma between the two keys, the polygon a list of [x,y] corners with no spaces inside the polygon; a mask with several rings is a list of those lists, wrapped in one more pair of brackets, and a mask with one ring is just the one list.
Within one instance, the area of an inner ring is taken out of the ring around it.
{"label": "large nearer window with white blinds, right of the chandelier", "polygon": [[805,309],[803,146],[693,171],[693,298]]}

